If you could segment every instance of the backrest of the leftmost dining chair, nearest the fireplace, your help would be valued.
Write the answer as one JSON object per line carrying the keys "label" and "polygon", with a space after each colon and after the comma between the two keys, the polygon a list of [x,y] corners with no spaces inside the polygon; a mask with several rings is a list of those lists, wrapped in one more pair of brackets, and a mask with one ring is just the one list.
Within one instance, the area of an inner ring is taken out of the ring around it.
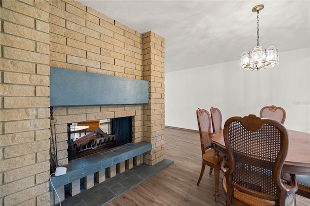
{"label": "backrest of the leftmost dining chair, nearest the fireplace", "polygon": [[211,116],[205,109],[198,108],[196,111],[197,121],[200,133],[200,143],[202,146],[202,154],[205,150],[211,147]]}

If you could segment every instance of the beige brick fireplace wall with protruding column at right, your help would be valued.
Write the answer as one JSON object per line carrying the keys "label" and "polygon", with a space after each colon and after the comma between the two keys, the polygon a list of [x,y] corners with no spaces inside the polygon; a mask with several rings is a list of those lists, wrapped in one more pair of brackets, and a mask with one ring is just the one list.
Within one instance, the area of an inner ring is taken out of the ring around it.
{"label": "beige brick fireplace wall with protruding column at right", "polygon": [[59,164],[67,123],[131,116],[133,142],[165,158],[164,39],[140,34],[72,0],[2,0],[0,204],[49,205],[49,67],[149,81],[149,104],[57,107]]}

